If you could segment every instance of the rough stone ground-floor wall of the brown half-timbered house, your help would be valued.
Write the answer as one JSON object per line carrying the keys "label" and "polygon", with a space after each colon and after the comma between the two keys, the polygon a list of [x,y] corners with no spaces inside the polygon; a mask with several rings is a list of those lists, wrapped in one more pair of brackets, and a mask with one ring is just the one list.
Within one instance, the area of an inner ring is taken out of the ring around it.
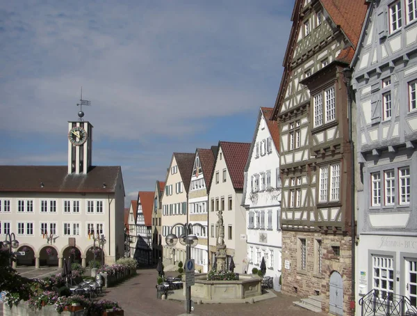
{"label": "rough stone ground-floor wall of the brown half-timbered house", "polygon": [[[298,239],[306,239],[306,269],[300,267],[301,247]],[[318,247],[316,240],[322,242],[322,272],[318,272]],[[340,247],[336,255],[332,246]],[[353,315],[350,310],[352,301],[352,244],[350,236],[324,235],[320,232],[291,232],[282,234],[282,285],[284,294],[298,297],[323,295],[322,310],[329,312],[329,281],[334,271],[343,279],[343,315]],[[285,268],[289,260],[290,269]]]}

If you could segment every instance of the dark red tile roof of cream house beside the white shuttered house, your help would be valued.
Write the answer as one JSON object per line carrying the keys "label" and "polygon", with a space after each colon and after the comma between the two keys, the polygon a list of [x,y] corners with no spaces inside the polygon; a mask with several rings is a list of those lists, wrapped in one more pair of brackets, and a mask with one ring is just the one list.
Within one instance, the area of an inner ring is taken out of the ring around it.
{"label": "dark red tile roof of cream house beside the white shuttered house", "polygon": [[245,166],[249,156],[251,143],[231,143],[219,141],[222,148],[224,161],[231,178],[234,189],[243,189]]}

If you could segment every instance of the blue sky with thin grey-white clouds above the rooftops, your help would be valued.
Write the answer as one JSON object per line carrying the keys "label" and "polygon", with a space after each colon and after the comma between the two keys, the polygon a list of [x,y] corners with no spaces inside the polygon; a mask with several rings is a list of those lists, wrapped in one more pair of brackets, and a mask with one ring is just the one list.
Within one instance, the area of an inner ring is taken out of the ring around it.
{"label": "blue sky with thin grey-white clouds above the rooftops", "polygon": [[173,152],[251,142],[293,4],[0,1],[0,164],[66,165],[81,86],[92,163],[122,166],[126,207],[165,181]]}

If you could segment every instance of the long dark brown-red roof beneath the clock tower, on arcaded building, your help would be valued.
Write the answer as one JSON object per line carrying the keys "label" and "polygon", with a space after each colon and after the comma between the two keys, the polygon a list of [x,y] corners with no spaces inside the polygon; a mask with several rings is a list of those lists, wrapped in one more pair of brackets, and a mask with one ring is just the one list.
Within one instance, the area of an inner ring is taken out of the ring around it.
{"label": "long dark brown-red roof beneath the clock tower, on arcaded building", "polygon": [[92,166],[86,175],[69,175],[67,166],[0,166],[0,191],[113,193],[118,177],[120,166]]}

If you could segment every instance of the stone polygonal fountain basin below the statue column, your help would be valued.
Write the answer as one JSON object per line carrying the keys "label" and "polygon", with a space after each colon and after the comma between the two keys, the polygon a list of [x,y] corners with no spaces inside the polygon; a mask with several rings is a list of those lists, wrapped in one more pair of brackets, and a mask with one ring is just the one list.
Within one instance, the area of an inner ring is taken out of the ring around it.
{"label": "stone polygonal fountain basin below the statue column", "polygon": [[253,274],[239,274],[239,280],[236,281],[208,281],[207,274],[195,274],[191,297],[216,301],[257,297],[262,294],[261,281],[259,276]]}

